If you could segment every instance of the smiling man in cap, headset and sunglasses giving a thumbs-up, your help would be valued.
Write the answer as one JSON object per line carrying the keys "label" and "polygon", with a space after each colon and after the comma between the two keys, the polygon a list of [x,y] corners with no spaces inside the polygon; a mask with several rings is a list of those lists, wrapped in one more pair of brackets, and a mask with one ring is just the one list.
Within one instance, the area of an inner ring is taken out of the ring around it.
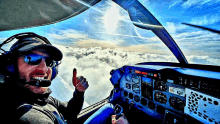
{"label": "smiling man in cap, headset and sunglasses giving a thumbs-up", "polygon": [[[4,43],[15,38],[18,40],[0,58],[0,123],[76,123],[89,86],[86,78],[77,77],[73,69],[73,97],[68,102],[53,98],[49,86],[58,73],[62,52],[35,33],[17,34]],[[96,117],[103,118],[102,115]],[[121,119],[113,118],[112,122],[120,123]]]}

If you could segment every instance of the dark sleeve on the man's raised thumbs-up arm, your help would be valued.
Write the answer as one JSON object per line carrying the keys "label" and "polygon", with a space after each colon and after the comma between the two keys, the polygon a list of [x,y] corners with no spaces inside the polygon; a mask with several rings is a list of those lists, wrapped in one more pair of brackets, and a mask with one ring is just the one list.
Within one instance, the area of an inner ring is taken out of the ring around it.
{"label": "dark sleeve on the man's raised thumbs-up arm", "polygon": [[61,102],[53,97],[50,97],[50,102],[56,106],[57,110],[64,116],[64,119],[71,123],[76,121],[77,115],[83,107],[84,92],[79,92],[76,89],[69,102]]}

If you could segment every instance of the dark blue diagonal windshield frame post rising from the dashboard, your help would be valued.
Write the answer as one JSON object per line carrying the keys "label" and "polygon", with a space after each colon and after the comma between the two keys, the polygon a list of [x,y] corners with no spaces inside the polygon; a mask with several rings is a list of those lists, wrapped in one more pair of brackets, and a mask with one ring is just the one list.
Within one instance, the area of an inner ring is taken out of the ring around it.
{"label": "dark blue diagonal windshield frame post rising from the dashboard", "polygon": [[186,57],[174,39],[170,36],[162,24],[138,0],[113,1],[128,11],[131,21],[135,26],[151,30],[171,50],[181,64],[188,64]]}

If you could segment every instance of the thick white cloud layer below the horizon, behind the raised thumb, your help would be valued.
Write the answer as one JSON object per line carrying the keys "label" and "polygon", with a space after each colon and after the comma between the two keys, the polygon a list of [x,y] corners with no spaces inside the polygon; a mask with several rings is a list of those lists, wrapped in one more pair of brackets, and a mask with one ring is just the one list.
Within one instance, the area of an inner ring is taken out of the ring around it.
{"label": "thick white cloud layer below the horizon, behind the raised thumb", "polygon": [[[91,47],[73,48],[57,45],[63,51],[64,58],[59,66],[59,76],[68,82],[72,89],[72,71],[77,69],[77,76],[84,76],[90,86],[85,93],[85,101],[93,104],[110,95],[113,86],[110,71],[124,65],[141,62],[177,62],[173,55],[128,52],[122,49]],[[220,59],[208,56],[188,56],[190,63],[219,64]]]}

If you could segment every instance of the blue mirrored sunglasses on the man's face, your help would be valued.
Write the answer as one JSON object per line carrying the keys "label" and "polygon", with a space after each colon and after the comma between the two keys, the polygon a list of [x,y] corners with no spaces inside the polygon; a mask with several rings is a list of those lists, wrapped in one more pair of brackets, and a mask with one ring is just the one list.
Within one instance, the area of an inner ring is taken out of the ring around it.
{"label": "blue mirrored sunglasses on the man's face", "polygon": [[47,67],[53,67],[55,65],[55,61],[52,60],[50,57],[46,57],[38,54],[24,55],[24,62],[28,63],[29,65],[39,65],[42,59],[45,60]]}

